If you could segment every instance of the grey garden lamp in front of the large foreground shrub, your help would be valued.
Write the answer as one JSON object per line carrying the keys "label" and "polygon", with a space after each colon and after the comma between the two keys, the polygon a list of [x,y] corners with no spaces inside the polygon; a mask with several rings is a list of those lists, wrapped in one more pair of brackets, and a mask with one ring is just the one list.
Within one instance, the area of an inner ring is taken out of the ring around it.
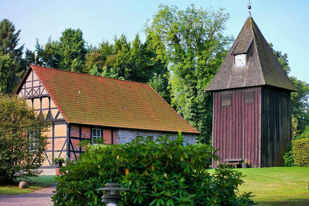
{"label": "grey garden lamp in front of the large foreground shrub", "polygon": [[118,183],[106,183],[104,187],[96,190],[105,190],[105,195],[102,196],[102,201],[105,202],[106,206],[119,206],[121,202],[121,195],[119,191],[127,191],[127,189],[120,187]]}

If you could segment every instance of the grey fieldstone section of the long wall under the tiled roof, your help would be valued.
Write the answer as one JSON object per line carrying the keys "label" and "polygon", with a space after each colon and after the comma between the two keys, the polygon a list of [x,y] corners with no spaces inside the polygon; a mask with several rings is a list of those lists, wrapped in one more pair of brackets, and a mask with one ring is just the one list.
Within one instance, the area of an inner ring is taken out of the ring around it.
{"label": "grey fieldstone section of the long wall under the tiled roof", "polygon": [[[146,130],[133,130],[133,129],[118,129],[116,131],[117,134],[117,144],[125,144],[127,142],[131,142],[132,139],[135,139],[136,136],[153,136],[154,140],[158,138],[158,136],[165,136],[167,134],[171,134],[170,139],[176,139],[177,133],[168,133],[168,132],[159,132],[159,131],[146,131]],[[182,137],[185,138],[185,144],[191,145],[195,143],[195,135],[194,134],[186,134],[182,133]]]}

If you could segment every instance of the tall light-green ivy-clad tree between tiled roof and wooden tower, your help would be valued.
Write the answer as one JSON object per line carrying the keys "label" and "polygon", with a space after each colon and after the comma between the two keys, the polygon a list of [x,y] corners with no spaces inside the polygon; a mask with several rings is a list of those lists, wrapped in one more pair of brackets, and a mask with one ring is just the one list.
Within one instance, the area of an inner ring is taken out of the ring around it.
{"label": "tall light-green ivy-clad tree between tiled roof and wooden tower", "polygon": [[223,36],[229,18],[224,9],[185,10],[160,4],[149,19],[145,32],[151,45],[169,65],[171,104],[193,127],[201,132],[197,138],[208,143],[212,134],[212,94],[205,92],[219,69],[232,37]]}

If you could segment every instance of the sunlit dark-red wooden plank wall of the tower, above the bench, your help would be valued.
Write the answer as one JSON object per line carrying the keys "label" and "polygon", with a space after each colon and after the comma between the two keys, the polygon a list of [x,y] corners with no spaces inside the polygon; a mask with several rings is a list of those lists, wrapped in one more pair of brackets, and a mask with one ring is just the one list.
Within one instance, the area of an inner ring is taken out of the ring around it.
{"label": "sunlit dark-red wooden plank wall of the tower, above the bench", "polygon": [[[244,103],[244,91],[248,89],[254,90],[253,103]],[[224,91],[231,91],[231,106],[220,105]],[[250,167],[260,167],[260,96],[260,86],[214,91],[213,146],[220,148],[217,155],[221,163],[242,158],[248,159]]]}

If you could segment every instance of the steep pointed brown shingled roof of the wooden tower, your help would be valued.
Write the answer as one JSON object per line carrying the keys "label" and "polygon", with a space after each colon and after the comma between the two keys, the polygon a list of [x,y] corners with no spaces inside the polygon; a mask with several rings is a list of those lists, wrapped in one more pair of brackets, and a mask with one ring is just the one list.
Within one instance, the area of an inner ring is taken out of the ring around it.
{"label": "steep pointed brown shingled roof of the wooden tower", "polygon": [[[242,53],[247,54],[247,65],[235,67],[234,55]],[[254,20],[249,17],[206,90],[223,90],[259,85],[297,91],[286,76],[260,29]]]}

